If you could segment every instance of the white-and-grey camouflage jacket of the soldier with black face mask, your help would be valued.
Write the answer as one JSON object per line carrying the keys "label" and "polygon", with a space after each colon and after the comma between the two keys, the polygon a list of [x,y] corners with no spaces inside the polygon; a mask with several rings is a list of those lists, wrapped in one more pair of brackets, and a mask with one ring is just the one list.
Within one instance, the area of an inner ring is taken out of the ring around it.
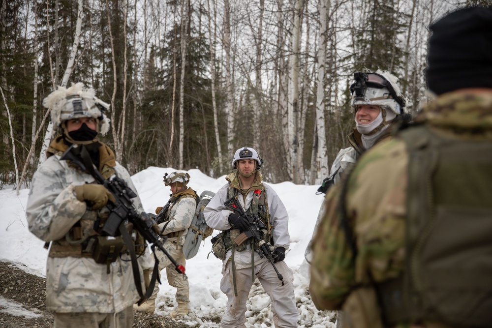
{"label": "white-and-grey camouflage jacket of the soldier with black face mask", "polygon": [[[136,190],[123,166],[116,163],[113,169],[130,188]],[[94,182],[94,178],[69,166],[57,154],[41,164],[32,178],[26,209],[31,233],[44,241],[65,236],[86,212],[86,203],[77,200],[74,193],[74,186],[86,182]],[[142,203],[138,196],[132,201],[137,211],[142,212]],[[145,268],[153,266],[149,258],[150,254],[140,259]],[[118,258],[109,268],[108,274],[105,264],[97,264],[87,257],[48,257],[47,310],[61,313],[116,313],[134,304],[139,297],[131,262]],[[142,277],[142,267],[140,271]],[[145,291],[145,287],[143,290]]]}

